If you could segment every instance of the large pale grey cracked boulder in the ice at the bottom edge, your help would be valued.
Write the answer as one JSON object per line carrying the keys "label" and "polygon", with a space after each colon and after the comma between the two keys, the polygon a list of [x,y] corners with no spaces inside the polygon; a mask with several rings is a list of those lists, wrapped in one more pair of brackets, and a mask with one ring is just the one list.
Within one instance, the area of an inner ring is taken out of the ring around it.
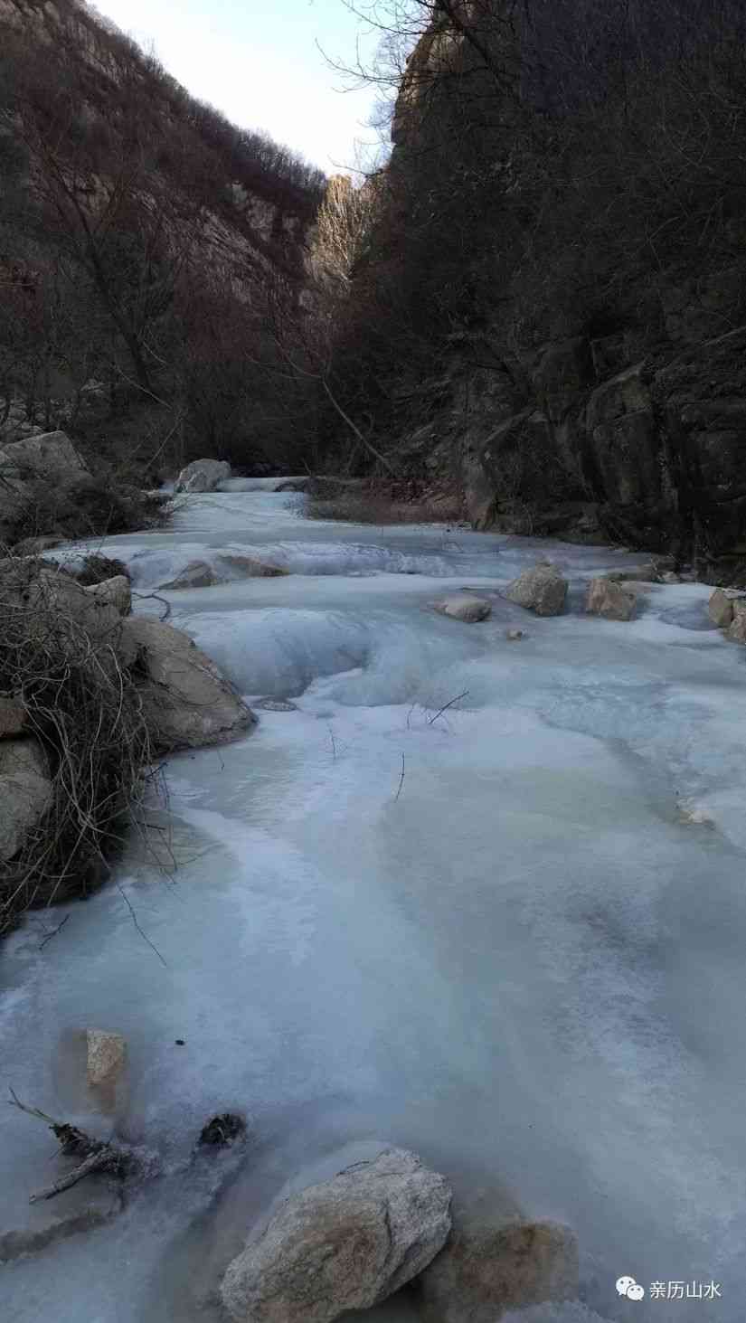
{"label": "large pale grey cracked boulder in the ice at the bottom edge", "polygon": [[415,1154],[372,1162],[292,1195],[229,1265],[222,1302],[235,1323],[331,1323],[386,1299],[422,1273],[451,1229],[451,1191]]}

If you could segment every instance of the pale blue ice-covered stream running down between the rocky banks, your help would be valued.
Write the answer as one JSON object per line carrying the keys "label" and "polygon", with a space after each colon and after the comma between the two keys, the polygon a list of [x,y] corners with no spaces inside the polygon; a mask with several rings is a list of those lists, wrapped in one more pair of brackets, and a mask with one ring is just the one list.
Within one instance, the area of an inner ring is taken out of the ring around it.
{"label": "pale blue ice-covered stream running down between the rocky banks", "polygon": [[[286,1183],[382,1138],[463,1201],[577,1229],[585,1303],[516,1320],[742,1323],[746,650],[698,585],[651,585],[628,624],[585,617],[583,582],[643,557],[310,521],[303,501],[185,497],[169,532],[106,548],[138,610],[167,599],[242,693],[296,710],[171,761],[173,877],[134,851],[120,890],[5,943],[3,1085],[69,1118],[65,1035],[122,1032],[128,1098],[101,1125],[163,1174],[110,1225],[1,1266],[0,1318],[214,1320]],[[500,595],[545,554],[571,579],[556,619]],[[291,573],[242,578],[241,557]],[[218,582],[163,591],[193,560]],[[430,610],[462,586],[488,622]],[[247,1151],[193,1162],[205,1118],[237,1109]],[[3,1121],[3,1226],[22,1225],[53,1142]],[[624,1273],[644,1301],[616,1295]],[[721,1295],[651,1298],[660,1281]]]}

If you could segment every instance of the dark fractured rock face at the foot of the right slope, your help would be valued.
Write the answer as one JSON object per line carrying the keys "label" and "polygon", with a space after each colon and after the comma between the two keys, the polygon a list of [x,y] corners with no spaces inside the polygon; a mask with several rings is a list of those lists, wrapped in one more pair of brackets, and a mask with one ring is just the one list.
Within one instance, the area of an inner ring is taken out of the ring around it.
{"label": "dark fractured rock face at the foot of the right slope", "polygon": [[550,341],[524,359],[522,407],[476,400],[451,443],[477,528],[746,554],[746,327],[634,348]]}

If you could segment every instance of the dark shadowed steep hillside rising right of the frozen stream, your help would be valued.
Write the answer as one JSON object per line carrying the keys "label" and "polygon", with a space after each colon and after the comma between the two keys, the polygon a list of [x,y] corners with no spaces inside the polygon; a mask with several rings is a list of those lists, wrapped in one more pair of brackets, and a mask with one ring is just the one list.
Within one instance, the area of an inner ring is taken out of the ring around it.
{"label": "dark shadowed steep hillside rising right of the frozen stream", "polygon": [[729,573],[746,553],[742,7],[407,12],[422,36],[340,299],[343,402],[480,528]]}

